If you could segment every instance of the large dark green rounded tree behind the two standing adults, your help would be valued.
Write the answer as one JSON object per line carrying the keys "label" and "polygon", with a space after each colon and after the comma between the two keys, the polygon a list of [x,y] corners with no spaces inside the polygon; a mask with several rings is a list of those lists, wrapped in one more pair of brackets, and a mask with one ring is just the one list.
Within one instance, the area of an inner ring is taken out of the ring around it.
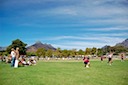
{"label": "large dark green rounded tree behind the two standing adults", "polygon": [[8,53],[10,53],[11,52],[11,48],[16,49],[17,47],[19,47],[19,53],[21,55],[25,55],[26,54],[26,45],[27,44],[22,42],[20,39],[16,39],[16,40],[12,41],[12,44],[7,47],[6,51]]}

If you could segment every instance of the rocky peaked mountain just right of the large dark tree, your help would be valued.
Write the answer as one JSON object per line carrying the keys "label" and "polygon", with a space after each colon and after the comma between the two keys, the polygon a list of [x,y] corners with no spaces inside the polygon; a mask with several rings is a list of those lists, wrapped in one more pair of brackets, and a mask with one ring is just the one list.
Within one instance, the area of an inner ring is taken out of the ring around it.
{"label": "rocky peaked mountain just right of the large dark tree", "polygon": [[43,44],[40,41],[38,41],[35,44],[27,47],[27,52],[36,52],[37,49],[39,49],[39,48],[44,48],[46,50],[49,50],[49,49],[56,50],[56,48],[54,48],[52,45],[50,45],[50,44]]}

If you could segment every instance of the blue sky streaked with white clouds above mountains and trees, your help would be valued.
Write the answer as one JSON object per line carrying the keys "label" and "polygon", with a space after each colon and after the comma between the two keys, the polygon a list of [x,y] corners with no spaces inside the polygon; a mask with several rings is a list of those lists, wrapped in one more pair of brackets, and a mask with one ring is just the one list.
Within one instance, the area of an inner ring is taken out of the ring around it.
{"label": "blue sky streaked with white clouds above mountains and trees", "polygon": [[128,0],[2,0],[0,46],[20,39],[62,49],[114,46],[128,38]]}

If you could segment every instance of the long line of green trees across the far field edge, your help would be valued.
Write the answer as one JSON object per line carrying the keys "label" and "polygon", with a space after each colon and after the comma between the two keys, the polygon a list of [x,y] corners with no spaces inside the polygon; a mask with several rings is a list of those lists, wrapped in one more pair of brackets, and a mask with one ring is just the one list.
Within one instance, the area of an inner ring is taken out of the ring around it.
{"label": "long line of green trees across the far field edge", "polygon": [[76,57],[76,56],[83,56],[83,55],[92,55],[92,56],[102,56],[106,55],[109,52],[114,52],[115,55],[118,55],[121,52],[128,52],[128,48],[124,46],[106,46],[105,48],[86,48],[85,50],[82,49],[71,49],[62,50],[61,48],[57,48],[56,50],[46,50],[44,48],[39,48],[36,52],[26,52],[27,44],[22,42],[20,39],[16,39],[12,41],[12,44],[7,47],[5,51],[1,51],[0,55],[9,55],[11,52],[11,48],[20,48],[20,54],[26,56],[38,56],[38,57]]}

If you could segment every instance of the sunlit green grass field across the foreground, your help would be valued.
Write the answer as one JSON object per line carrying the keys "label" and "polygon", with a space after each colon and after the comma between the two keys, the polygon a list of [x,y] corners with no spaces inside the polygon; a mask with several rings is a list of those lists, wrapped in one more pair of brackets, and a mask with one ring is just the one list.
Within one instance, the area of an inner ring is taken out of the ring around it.
{"label": "sunlit green grass field across the foreground", "polygon": [[12,68],[0,62],[0,85],[128,85],[128,61],[39,61],[35,66]]}

